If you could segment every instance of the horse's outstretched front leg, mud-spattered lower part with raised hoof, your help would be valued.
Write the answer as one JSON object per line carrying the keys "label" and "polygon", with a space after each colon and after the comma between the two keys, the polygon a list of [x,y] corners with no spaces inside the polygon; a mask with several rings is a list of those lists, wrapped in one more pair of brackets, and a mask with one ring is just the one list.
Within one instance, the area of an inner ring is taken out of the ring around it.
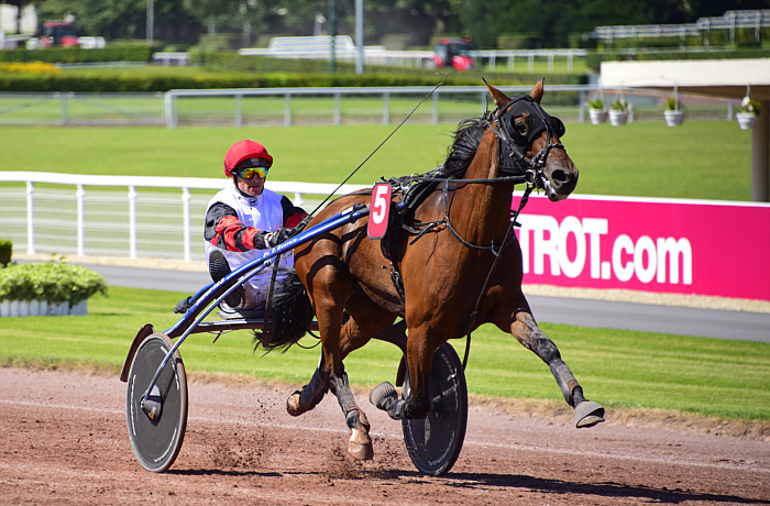
{"label": "horse's outstretched front leg, mud-spattered lower part with raised hoof", "polygon": [[510,333],[527,349],[548,364],[556,377],[564,400],[575,409],[574,420],[578,428],[593,427],[604,421],[604,408],[583,397],[583,387],[561,360],[559,349],[551,339],[540,330],[530,312],[519,311],[510,324]]}

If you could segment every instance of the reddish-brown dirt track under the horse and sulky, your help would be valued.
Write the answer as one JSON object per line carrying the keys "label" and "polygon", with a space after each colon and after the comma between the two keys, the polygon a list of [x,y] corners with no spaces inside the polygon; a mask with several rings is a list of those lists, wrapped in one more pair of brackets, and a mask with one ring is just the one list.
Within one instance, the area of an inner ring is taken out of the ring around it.
{"label": "reddish-brown dirt track under the horse and sulky", "polygon": [[444,477],[416,472],[400,425],[359,396],[374,461],[346,457],[327,397],[299,418],[286,385],[191,381],[187,435],[170,471],[133,457],[117,377],[0,369],[4,504],[770,504],[770,442],[609,421],[576,430],[473,407]]}

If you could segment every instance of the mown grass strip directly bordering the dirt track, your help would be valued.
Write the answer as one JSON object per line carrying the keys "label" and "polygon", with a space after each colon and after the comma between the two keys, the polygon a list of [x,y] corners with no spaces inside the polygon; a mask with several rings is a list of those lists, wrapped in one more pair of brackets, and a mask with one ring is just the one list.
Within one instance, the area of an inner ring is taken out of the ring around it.
{"label": "mown grass strip directly bordering the dirt track", "polygon": [[[0,320],[0,363],[91,363],[117,371],[139,328],[156,331],[177,319],[175,304],[188,294],[110,287],[89,300],[86,317]],[[770,419],[770,344],[648,332],[542,324],[590,398],[608,408],[672,409],[734,419]],[[319,349],[285,354],[252,352],[251,334],[194,334],[182,346],[189,371],[237,373],[304,384]],[[304,344],[315,343],[305,338]],[[464,341],[454,342],[462,356]],[[372,342],[345,369],[351,382],[393,382],[399,360],[392,344]],[[117,373],[116,373],[117,374]],[[492,327],[473,334],[466,371],[472,394],[561,399],[548,367],[510,336]]]}

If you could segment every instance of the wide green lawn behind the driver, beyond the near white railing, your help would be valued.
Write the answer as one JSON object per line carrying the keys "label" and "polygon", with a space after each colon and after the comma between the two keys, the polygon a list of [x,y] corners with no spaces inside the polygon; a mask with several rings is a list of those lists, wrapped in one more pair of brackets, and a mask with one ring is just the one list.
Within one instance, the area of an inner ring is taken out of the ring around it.
{"label": "wide green lawn behind the driver, beyond the near white railing", "polygon": [[[272,179],[339,183],[394,128],[0,127],[0,170],[224,177],[228,147],[250,138],[274,155]],[[405,124],[350,183],[371,185],[436,167],[454,128]],[[563,142],[581,170],[579,194],[748,201],[750,138],[728,121],[685,121],[671,129],[661,120],[622,128],[568,123]]]}

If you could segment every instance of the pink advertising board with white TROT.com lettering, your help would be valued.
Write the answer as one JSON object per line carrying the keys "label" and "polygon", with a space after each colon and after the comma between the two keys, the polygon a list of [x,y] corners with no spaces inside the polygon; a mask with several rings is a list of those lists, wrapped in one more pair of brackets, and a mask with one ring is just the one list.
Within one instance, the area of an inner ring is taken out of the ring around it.
{"label": "pink advertising board with white TROT.com lettering", "polygon": [[525,284],[770,300],[768,204],[531,197],[517,221]]}

